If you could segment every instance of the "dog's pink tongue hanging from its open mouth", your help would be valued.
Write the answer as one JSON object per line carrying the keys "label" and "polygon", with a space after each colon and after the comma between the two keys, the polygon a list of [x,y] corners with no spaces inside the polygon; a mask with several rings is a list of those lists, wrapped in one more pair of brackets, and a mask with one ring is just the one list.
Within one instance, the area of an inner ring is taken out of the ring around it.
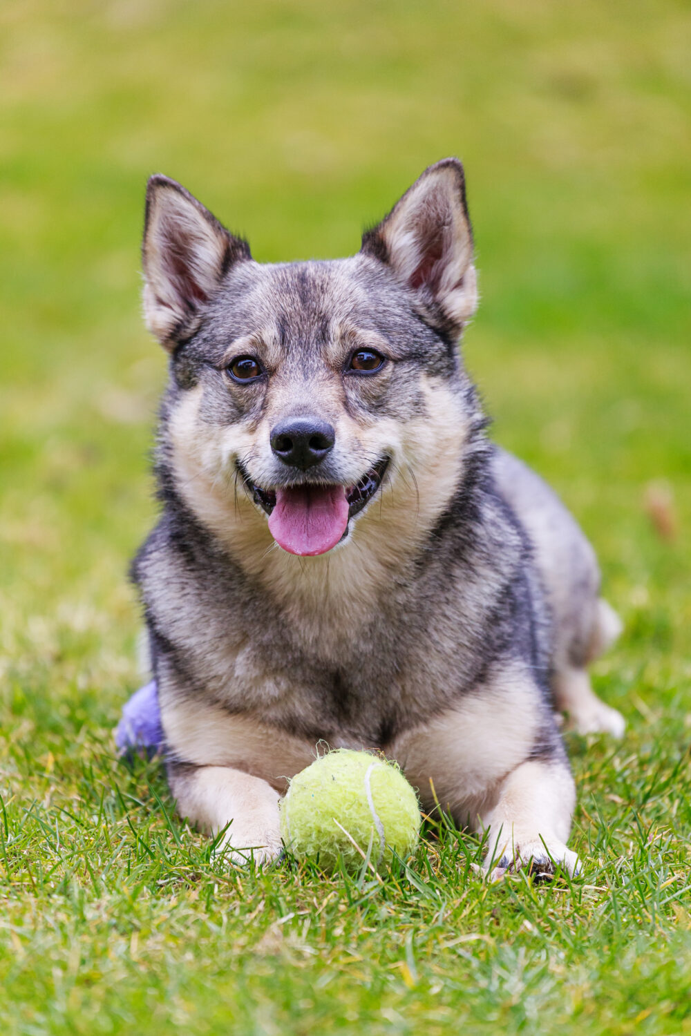
{"label": "dog's pink tongue hanging from its open mouth", "polygon": [[277,489],[268,528],[290,554],[323,554],[339,542],[348,524],[343,486]]}

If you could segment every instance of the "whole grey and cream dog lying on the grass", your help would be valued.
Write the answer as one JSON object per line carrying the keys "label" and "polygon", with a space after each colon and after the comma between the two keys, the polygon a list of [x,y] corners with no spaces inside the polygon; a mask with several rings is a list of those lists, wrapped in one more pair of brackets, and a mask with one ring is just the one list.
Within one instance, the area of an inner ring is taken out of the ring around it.
{"label": "whole grey and cream dog lying on the grass", "polygon": [[574,519],[486,436],[461,164],[357,255],[277,264],[152,176],[143,259],[170,383],[134,576],[178,812],[270,860],[318,743],[377,749],[487,865],[576,871],[558,713],[623,732],[586,672],[620,623]]}

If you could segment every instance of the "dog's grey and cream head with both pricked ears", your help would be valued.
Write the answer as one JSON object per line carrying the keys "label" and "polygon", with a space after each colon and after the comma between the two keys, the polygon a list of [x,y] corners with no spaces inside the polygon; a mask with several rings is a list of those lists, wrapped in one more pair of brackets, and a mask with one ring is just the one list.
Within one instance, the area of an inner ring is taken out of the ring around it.
{"label": "dog's grey and cream head with both pricked ears", "polygon": [[438,513],[472,416],[459,163],[428,169],[356,256],[277,265],[155,176],[143,254],[147,323],[172,357],[171,464],[204,524],[240,551],[272,537],[316,555],[376,520],[386,492],[423,524]]}

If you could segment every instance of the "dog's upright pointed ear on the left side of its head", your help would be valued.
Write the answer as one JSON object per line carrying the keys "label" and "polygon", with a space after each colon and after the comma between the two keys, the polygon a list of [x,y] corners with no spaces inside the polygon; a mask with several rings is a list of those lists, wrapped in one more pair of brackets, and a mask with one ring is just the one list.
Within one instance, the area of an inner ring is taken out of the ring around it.
{"label": "dog's upright pointed ear on the left side of its head", "polygon": [[204,305],[229,267],[251,259],[208,209],[167,176],[149,178],[142,263],[146,326],[167,349],[199,324]]}

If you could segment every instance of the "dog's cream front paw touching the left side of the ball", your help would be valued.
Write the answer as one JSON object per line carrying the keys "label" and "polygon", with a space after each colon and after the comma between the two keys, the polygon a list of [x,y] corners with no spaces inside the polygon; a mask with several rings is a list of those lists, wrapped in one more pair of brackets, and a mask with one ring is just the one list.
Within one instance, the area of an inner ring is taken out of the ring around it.
{"label": "dog's cream front paw touching the left side of the ball", "polygon": [[229,859],[263,863],[281,853],[279,793],[265,780],[231,767],[171,762],[168,781],[180,816],[206,834],[228,829],[220,847]]}

